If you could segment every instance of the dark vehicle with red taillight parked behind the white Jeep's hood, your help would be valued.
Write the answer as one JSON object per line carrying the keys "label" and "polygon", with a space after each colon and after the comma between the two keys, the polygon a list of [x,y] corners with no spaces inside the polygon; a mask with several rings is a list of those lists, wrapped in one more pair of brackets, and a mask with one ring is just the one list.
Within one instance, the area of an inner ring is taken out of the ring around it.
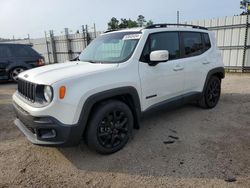
{"label": "dark vehicle with red taillight parked behind the white Jeep's hood", "polygon": [[0,43],[0,80],[16,81],[19,73],[44,64],[30,45]]}

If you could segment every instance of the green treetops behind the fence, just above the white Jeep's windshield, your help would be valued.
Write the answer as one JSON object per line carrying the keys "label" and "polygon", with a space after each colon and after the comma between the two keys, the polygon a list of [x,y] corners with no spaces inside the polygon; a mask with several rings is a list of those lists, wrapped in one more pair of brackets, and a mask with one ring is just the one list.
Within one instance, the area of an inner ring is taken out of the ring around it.
{"label": "green treetops behind the fence, just above the white Jeep's windshield", "polygon": [[133,28],[133,27],[144,27],[153,25],[152,20],[146,20],[143,15],[139,15],[136,20],[121,18],[118,20],[117,18],[113,17],[108,22],[108,30],[118,30],[118,29],[125,29],[125,28]]}

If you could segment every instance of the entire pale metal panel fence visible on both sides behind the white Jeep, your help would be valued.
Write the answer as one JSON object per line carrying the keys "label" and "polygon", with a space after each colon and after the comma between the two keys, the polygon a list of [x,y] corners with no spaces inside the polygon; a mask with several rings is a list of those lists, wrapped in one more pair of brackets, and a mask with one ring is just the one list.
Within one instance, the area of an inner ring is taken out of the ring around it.
{"label": "entire pale metal panel fence visible on both sides behind the white Jeep", "polygon": [[[185,22],[200,25],[213,31],[217,38],[227,70],[250,72],[250,30],[249,15],[213,18]],[[61,63],[77,57],[80,52],[102,32],[88,32],[84,27],[81,33],[54,36],[53,31],[45,33],[44,38],[8,41],[30,44],[44,56],[48,64]]]}

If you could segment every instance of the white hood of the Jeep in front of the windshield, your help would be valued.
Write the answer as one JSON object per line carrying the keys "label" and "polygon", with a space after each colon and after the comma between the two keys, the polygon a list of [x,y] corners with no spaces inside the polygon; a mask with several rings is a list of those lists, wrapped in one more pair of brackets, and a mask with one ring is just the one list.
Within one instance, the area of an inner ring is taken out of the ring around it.
{"label": "white hood of the Jeep in front of the windshield", "polygon": [[69,79],[71,77],[82,77],[88,74],[114,69],[117,66],[118,64],[95,64],[70,61],[30,69],[20,73],[18,77],[37,84],[51,85],[57,81]]}

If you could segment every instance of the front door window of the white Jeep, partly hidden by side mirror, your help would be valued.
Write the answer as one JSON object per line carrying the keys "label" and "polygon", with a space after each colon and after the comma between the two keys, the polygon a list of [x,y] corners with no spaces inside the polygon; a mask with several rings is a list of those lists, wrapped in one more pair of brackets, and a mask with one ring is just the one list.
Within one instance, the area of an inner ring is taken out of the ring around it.
{"label": "front door window of the white Jeep, partly hidden by side mirror", "polygon": [[141,61],[149,61],[152,51],[168,50],[169,60],[180,58],[180,42],[178,32],[164,32],[151,34],[142,52]]}

